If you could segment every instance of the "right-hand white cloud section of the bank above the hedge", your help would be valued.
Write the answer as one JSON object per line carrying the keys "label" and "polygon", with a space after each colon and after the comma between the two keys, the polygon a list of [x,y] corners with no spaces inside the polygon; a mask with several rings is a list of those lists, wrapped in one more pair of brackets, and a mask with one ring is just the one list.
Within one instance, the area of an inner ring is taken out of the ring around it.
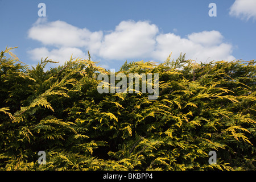
{"label": "right-hand white cloud section of the bank above the hedge", "polygon": [[156,37],[157,46],[154,52],[155,59],[165,60],[172,51],[172,57],[176,58],[180,52],[186,53],[187,59],[193,59],[200,63],[211,60],[234,60],[231,55],[232,45],[222,43],[223,36],[218,31],[203,31],[192,33],[186,38],[180,38],[175,34],[160,34]]}

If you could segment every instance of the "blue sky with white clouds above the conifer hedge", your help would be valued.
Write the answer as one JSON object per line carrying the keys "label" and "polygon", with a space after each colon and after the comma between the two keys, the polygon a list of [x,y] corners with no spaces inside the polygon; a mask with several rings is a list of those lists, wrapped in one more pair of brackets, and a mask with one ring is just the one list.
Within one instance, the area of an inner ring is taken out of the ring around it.
{"label": "blue sky with white clouds above the conifer hedge", "polygon": [[[46,17],[39,17],[39,3]],[[217,16],[210,17],[210,3]],[[180,52],[197,63],[256,58],[255,0],[13,1],[0,0],[0,50],[16,47],[20,61],[73,57],[119,69],[127,61],[161,63]]]}

